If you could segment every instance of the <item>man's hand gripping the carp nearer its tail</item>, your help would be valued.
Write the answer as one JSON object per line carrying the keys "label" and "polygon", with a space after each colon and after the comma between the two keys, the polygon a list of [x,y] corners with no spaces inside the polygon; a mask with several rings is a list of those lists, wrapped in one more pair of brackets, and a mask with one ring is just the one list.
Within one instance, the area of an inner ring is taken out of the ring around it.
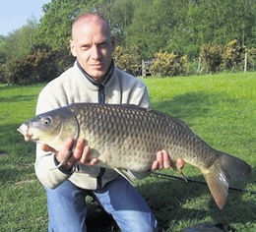
{"label": "man's hand gripping the carp nearer its tail", "polygon": [[[181,170],[185,165],[185,161],[182,158],[178,158],[176,165]],[[170,167],[171,167],[171,160],[169,158],[167,151],[164,149],[158,151],[157,159],[153,162],[151,170],[156,171],[158,169],[170,168]]]}

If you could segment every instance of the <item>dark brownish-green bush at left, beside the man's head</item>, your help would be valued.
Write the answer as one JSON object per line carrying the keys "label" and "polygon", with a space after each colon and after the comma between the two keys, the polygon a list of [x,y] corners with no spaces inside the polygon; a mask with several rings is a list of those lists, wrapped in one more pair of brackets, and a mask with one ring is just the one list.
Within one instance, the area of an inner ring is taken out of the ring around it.
{"label": "dark brownish-green bush at left, beside the man's head", "polygon": [[13,57],[0,66],[0,82],[31,85],[51,81],[71,65],[71,57],[65,53],[43,44],[34,46],[24,58]]}

